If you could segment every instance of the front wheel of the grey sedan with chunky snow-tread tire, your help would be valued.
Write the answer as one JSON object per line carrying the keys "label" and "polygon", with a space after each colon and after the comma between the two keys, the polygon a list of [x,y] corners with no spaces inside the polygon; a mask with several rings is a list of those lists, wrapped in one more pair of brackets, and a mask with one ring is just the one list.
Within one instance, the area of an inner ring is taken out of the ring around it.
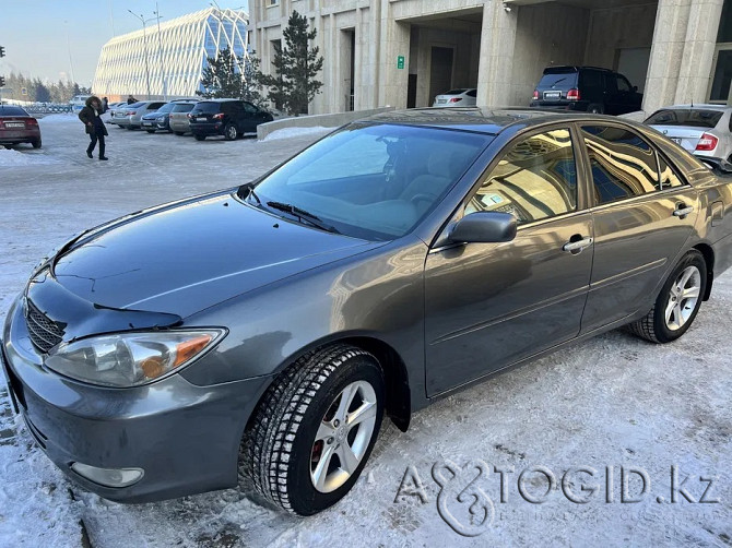
{"label": "front wheel of the grey sedan with chunky snow-tread tire", "polygon": [[383,415],[374,356],[339,344],[303,356],[267,390],[243,441],[255,489],[300,515],[324,510],[353,487]]}

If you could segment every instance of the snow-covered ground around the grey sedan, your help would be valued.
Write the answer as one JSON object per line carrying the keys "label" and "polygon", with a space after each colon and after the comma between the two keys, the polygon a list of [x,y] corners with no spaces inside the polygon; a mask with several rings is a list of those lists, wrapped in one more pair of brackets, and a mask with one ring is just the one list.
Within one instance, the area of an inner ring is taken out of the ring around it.
{"label": "snow-covered ground around the grey sedan", "polygon": [[[113,127],[110,160],[102,163],[85,157],[73,117],[51,116],[40,127],[40,151],[0,151],[3,319],[37,259],[71,234],[246,181],[320,134],[199,143]],[[732,546],[731,306],[727,274],[681,342],[661,347],[612,332],[444,400],[416,414],[408,433],[387,426],[351,495],[309,519],[234,489],[132,507],[99,499],[69,484],[34,446],[2,389],[0,546]],[[556,479],[544,503],[527,500],[547,490],[536,466]],[[676,487],[696,502],[678,492],[671,502],[672,466]],[[577,467],[593,468],[593,477]],[[501,502],[497,469],[509,468]],[[477,499],[459,500],[481,469]],[[637,503],[629,502],[641,492],[634,469],[649,480]],[[578,497],[589,501],[570,500]],[[493,508],[491,520],[484,508]]]}

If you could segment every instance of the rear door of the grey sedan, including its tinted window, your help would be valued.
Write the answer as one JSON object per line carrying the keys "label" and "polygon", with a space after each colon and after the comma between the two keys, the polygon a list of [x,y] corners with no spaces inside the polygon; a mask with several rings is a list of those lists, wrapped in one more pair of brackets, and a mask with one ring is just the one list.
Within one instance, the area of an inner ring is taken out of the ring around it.
{"label": "rear door of the grey sedan, including its tinted window", "polygon": [[[582,333],[648,306],[675,264],[698,212],[696,192],[639,133],[586,124],[594,262]],[[685,214],[683,214],[685,213]]]}

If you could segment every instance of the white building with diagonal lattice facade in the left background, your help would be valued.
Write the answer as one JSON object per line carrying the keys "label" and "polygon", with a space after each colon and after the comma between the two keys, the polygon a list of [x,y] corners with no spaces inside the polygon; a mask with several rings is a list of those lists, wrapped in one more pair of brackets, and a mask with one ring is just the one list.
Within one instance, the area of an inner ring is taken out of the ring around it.
{"label": "white building with diagonal lattice facade in the left background", "polygon": [[244,11],[214,8],[160,26],[147,22],[104,45],[92,92],[110,100],[129,94],[138,99],[194,96],[209,57],[226,46],[237,57],[248,50],[247,24]]}

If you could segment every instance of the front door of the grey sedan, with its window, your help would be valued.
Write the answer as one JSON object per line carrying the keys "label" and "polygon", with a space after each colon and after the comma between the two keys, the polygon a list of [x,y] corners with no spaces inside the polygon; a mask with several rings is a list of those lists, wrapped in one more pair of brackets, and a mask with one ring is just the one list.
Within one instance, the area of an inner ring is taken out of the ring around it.
{"label": "front door of the grey sedan, with its window", "polygon": [[580,330],[592,266],[568,127],[509,144],[458,215],[500,211],[516,238],[432,249],[425,263],[429,396],[568,341]]}

